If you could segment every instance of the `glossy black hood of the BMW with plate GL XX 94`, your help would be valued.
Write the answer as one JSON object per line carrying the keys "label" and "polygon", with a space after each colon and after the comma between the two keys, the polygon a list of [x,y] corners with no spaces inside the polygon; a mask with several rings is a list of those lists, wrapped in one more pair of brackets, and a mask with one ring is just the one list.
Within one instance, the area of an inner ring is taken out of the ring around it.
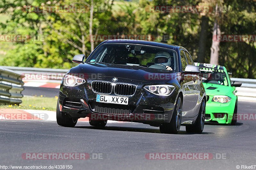
{"label": "glossy black hood of the BMW with plate GL XX 94", "polygon": [[152,84],[165,84],[168,80],[179,75],[179,73],[172,73],[167,70],[107,63],[82,63],[73,67],[69,74],[79,74],[91,78],[98,76],[102,77],[103,80],[104,77],[124,78]]}

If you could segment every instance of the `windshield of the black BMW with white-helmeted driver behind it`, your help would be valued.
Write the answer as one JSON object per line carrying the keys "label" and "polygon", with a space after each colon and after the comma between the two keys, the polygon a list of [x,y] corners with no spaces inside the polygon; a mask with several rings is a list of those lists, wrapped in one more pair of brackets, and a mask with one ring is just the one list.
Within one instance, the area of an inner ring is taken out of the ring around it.
{"label": "windshield of the black BMW with white-helmeted driver behind it", "polygon": [[104,44],[86,62],[165,70],[169,66],[173,72],[178,71],[177,53],[174,50],[138,44]]}

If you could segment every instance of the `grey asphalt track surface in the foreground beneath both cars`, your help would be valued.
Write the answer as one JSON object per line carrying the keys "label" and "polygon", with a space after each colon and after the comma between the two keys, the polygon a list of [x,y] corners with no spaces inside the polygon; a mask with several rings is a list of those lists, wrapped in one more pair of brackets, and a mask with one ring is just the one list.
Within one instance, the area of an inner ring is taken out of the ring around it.
{"label": "grey asphalt track surface in the foreground beneath both cars", "polygon": [[[238,113],[256,113],[255,103],[239,102]],[[0,121],[0,165],[72,165],[73,169],[237,169],[256,164],[256,120],[236,126],[205,125],[202,134],[161,134],[140,123],[108,123],[97,129],[87,122],[75,128],[56,122]],[[103,159],[26,160],[22,153],[102,153]],[[222,153],[226,159],[148,160],[147,153]],[[256,169],[256,167],[255,167]]]}

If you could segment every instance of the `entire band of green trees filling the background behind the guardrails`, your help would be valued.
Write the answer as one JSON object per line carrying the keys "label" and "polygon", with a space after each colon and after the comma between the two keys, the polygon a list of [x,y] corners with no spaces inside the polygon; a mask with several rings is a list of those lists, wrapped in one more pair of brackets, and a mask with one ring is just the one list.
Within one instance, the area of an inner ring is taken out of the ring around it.
{"label": "entire band of green trees filling the background behind the guardrails", "polygon": [[[165,5],[211,10],[148,10]],[[86,11],[38,13],[24,10],[26,6],[84,6]],[[212,41],[217,27],[220,35],[256,35],[255,22],[254,0],[2,0],[0,34],[30,35],[36,40],[0,40],[0,65],[68,69],[75,65],[74,55],[88,56],[99,45],[92,36],[151,35],[154,41],[187,48],[196,62],[210,63],[212,56],[212,63],[226,66],[233,77],[256,78],[256,41]],[[213,57],[215,48],[219,51]]]}

